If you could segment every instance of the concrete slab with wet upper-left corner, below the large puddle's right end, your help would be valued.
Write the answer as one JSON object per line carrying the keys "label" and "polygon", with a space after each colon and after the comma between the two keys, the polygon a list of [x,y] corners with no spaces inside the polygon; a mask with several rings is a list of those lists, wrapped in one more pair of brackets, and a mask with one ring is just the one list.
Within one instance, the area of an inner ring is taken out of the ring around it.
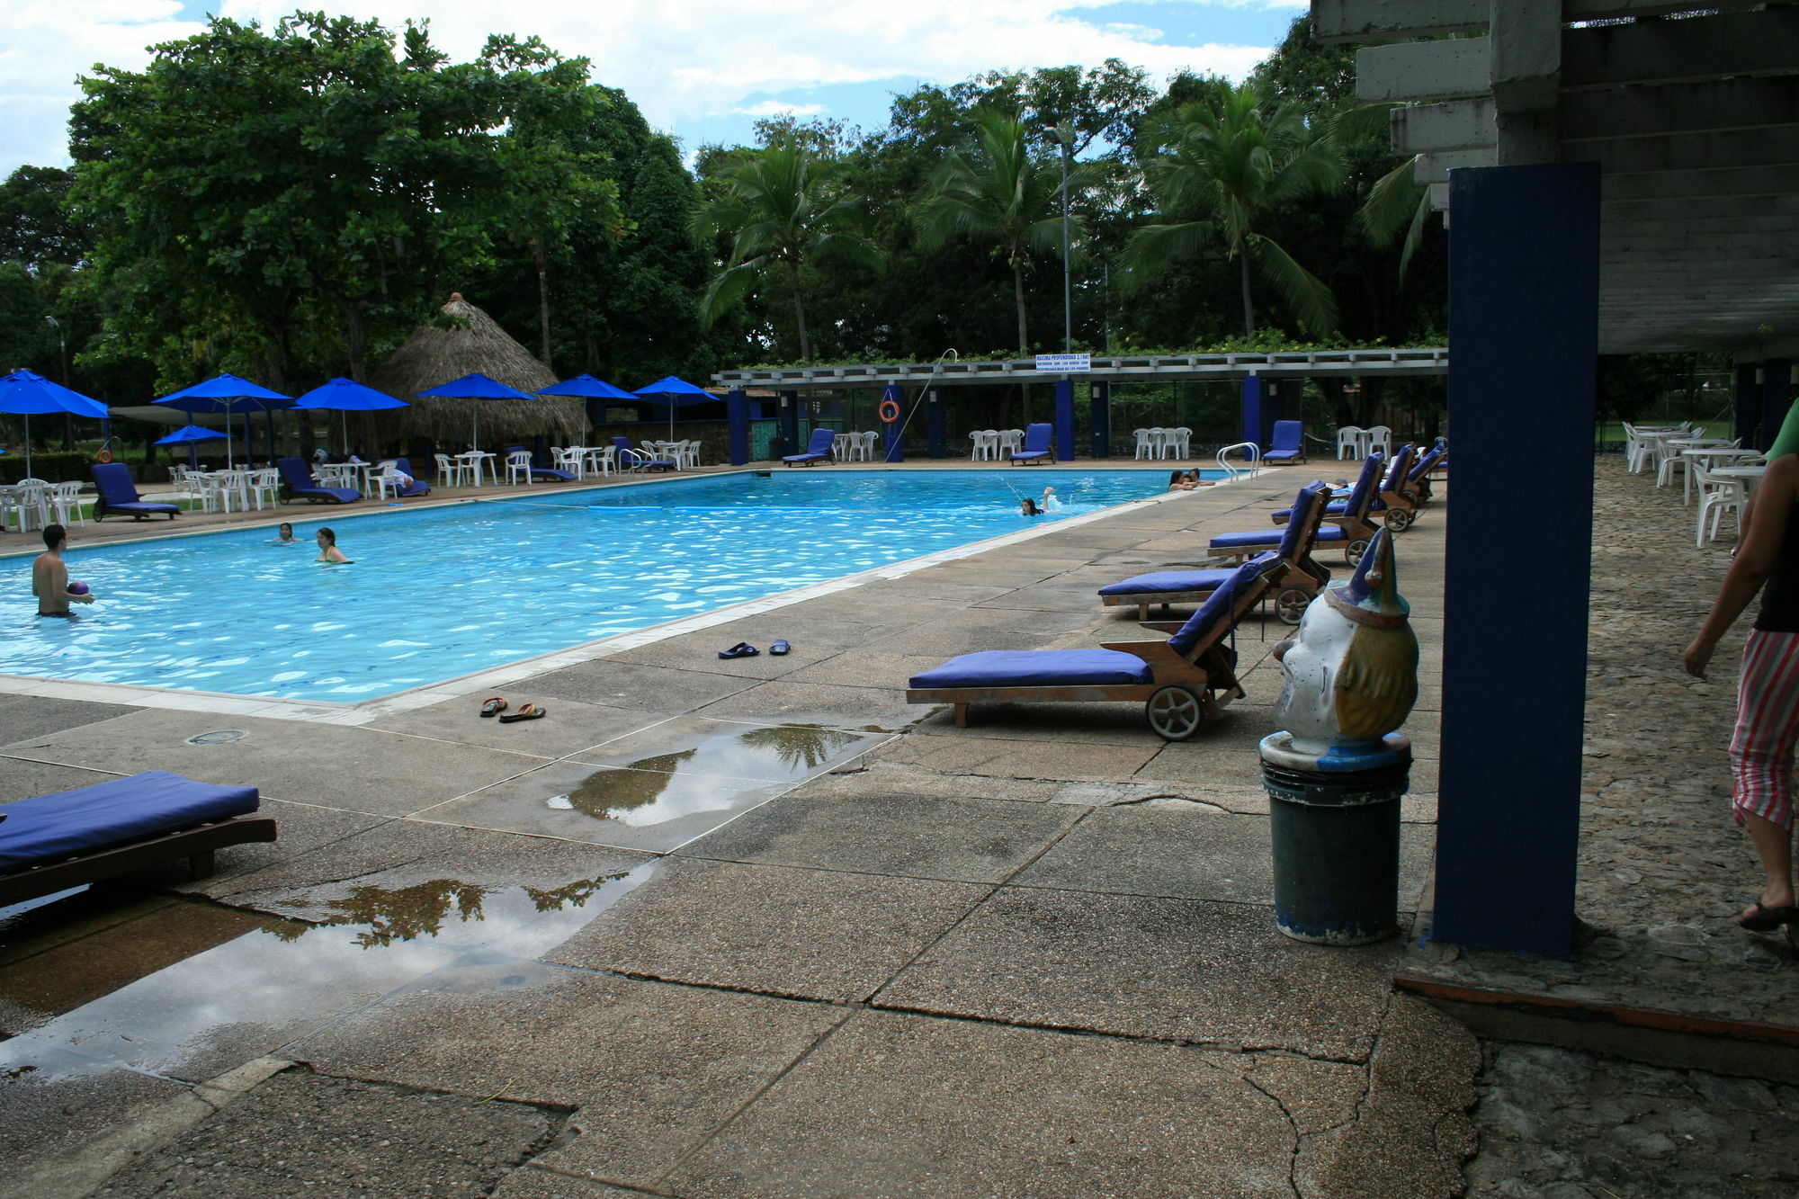
{"label": "concrete slab with wet upper-left corner, below the large puddle's right end", "polygon": [[651,1185],[846,1010],[538,963],[441,970],[290,1046],[313,1068],[576,1109],[540,1161]]}

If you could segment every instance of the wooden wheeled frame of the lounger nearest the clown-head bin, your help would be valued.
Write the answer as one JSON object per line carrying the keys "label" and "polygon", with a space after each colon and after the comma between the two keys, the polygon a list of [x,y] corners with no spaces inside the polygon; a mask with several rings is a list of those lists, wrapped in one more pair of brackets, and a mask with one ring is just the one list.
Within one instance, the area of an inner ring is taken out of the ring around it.
{"label": "wooden wheeled frame of the lounger nearest the clown-head bin", "polygon": [[[1103,704],[1124,702],[1144,706],[1150,727],[1168,742],[1186,742],[1207,724],[1223,715],[1225,706],[1243,699],[1243,684],[1236,675],[1236,654],[1223,641],[1236,632],[1243,614],[1254,609],[1274,587],[1270,565],[1250,580],[1231,605],[1231,614],[1213,625],[1211,632],[1180,654],[1168,641],[1112,641],[1103,650],[1132,654],[1150,664],[1150,682],[1069,684],[1069,686],[1006,686],[1006,688],[908,688],[908,704],[952,704],[955,727],[968,727],[971,704],[1007,704],[1020,700]],[[1142,628],[1173,637],[1186,621],[1150,621]]]}

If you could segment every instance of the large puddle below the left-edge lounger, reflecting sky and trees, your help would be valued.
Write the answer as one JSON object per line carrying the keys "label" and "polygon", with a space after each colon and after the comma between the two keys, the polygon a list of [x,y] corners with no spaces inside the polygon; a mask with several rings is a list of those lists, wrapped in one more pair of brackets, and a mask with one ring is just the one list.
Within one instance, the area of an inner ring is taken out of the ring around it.
{"label": "large puddle below the left-edge lounger, reflecting sky and trees", "polygon": [[121,889],[0,909],[0,1087],[77,1066],[209,1078],[434,972],[529,963],[653,871],[353,888],[317,924]]}

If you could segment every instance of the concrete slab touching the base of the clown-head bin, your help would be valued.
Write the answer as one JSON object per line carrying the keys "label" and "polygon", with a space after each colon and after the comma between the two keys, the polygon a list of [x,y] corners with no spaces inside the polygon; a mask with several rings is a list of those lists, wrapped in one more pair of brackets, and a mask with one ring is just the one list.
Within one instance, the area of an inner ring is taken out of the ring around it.
{"label": "concrete slab touching the base of the clown-head bin", "polygon": [[1398,952],[1302,945],[1259,906],[1002,888],[874,1003],[1360,1060]]}

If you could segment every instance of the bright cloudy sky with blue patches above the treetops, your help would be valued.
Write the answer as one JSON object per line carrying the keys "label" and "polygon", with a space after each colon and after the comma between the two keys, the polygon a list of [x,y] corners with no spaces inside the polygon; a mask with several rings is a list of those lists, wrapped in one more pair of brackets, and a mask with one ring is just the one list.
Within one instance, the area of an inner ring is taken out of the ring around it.
{"label": "bright cloudy sky with blue patches above the treetops", "polygon": [[200,32],[209,13],[273,25],[304,9],[432,22],[455,61],[489,32],[536,34],[594,63],[649,124],[691,155],[747,144],[757,117],[887,122],[896,92],[984,70],[1119,58],[1155,83],[1180,70],[1241,79],[1286,34],[1306,0],[4,0],[0,175],[68,162],[76,76],[95,63],[142,68],[149,45]]}

